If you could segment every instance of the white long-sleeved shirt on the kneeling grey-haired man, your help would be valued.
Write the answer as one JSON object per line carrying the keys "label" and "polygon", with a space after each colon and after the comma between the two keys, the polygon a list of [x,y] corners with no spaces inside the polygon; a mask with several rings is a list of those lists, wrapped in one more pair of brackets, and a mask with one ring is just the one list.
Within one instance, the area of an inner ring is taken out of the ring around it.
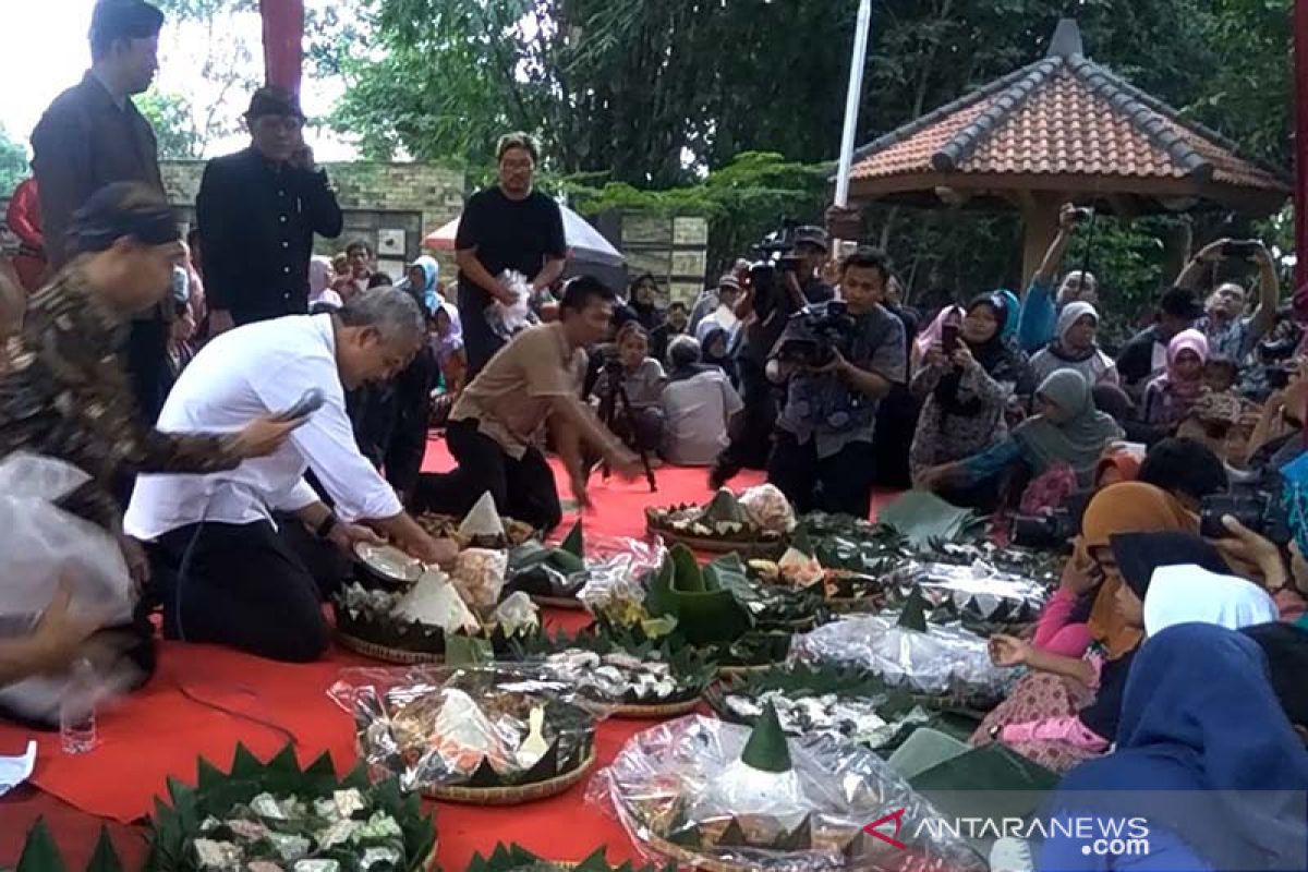
{"label": "white long-sleeved shirt on the kneeling grey-haired man", "polygon": [[208,476],[139,476],[124,531],[152,540],[200,520],[272,520],[272,511],[296,511],[318,499],[303,480],[310,467],[345,520],[398,515],[399,498],[354,442],[331,315],[290,315],[222,333],[182,371],[158,429],[235,431],[289,409],[309,388],[320,390],[326,403],[275,454]]}

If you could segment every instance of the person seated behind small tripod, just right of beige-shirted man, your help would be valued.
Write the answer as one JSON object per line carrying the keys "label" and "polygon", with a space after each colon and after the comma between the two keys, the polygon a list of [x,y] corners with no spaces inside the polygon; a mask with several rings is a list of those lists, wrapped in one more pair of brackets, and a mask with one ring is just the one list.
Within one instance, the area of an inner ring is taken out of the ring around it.
{"label": "person seated behind small tripod, just right of beige-shirted man", "polygon": [[[621,378],[628,408],[617,399],[615,378]],[[663,441],[663,366],[649,356],[649,333],[640,322],[617,331],[617,357],[610,360],[595,383],[602,417],[612,411],[612,430],[633,448],[657,451]],[[629,416],[624,414],[629,412]]]}

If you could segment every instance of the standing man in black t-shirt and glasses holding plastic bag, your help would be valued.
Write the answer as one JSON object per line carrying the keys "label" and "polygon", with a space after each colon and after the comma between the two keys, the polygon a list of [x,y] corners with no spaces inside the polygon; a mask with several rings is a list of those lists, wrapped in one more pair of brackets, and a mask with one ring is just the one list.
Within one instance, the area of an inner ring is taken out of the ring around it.
{"label": "standing man in black t-shirt and glasses holding plastic bag", "polygon": [[568,256],[559,205],[531,187],[539,157],[535,140],[526,133],[508,133],[500,137],[496,157],[500,182],[468,197],[454,242],[470,380],[505,344],[485,315],[496,301],[514,302],[501,273],[519,272],[532,292],[540,292],[562,275]]}

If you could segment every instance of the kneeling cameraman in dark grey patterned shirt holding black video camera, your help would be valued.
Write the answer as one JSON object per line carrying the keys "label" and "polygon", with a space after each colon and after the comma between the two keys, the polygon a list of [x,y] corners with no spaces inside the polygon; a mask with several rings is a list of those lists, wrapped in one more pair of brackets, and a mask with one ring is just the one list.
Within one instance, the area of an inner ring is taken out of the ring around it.
{"label": "kneeling cameraman in dark grey patterned shirt holding black video camera", "polygon": [[794,316],[768,361],[786,386],[768,481],[799,512],[867,518],[876,407],[905,379],[904,324],[882,306],[889,267],[874,248],[841,264],[841,302]]}

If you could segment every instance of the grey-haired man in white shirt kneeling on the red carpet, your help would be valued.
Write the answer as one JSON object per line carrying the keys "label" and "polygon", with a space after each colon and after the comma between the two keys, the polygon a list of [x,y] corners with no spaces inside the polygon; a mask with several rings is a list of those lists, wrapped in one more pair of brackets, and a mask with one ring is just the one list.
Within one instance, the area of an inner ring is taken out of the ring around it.
{"label": "grey-haired man in white shirt kneeling on the red carpet", "polygon": [[[239,327],[187,366],[162,430],[222,430],[292,409],[313,390],[322,404],[268,458],[203,478],[137,480],[126,526],[149,543],[167,638],[314,660],[330,638],[320,588],[340,580],[309,570],[326,543],[349,552],[381,532],[424,562],[454,558],[454,543],[428,536],[360,454],[345,414],[347,390],[392,377],[424,339],[413,298],[378,288],[336,312]],[[305,481],[309,468],[335,509]],[[319,541],[296,535],[305,529]]]}

